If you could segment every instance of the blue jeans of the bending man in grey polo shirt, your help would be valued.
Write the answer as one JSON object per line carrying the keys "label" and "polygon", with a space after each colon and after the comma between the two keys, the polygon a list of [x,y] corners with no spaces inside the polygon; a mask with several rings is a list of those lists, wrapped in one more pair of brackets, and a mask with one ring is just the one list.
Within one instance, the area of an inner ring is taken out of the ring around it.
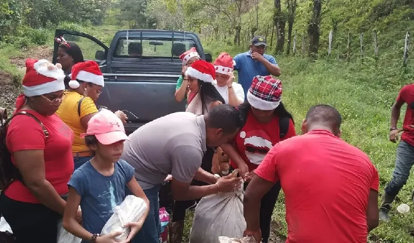
{"label": "blue jeans of the bending man in grey polo shirt", "polygon": [[[132,243],[159,243],[161,235],[160,205],[158,203],[159,186],[144,190],[148,200],[150,200],[150,211],[141,230],[132,239]],[[129,191],[129,190],[127,190]],[[126,192],[127,192],[126,191]],[[131,192],[131,191],[129,191]],[[128,194],[128,193],[125,193]],[[132,194],[132,193],[129,193]]]}

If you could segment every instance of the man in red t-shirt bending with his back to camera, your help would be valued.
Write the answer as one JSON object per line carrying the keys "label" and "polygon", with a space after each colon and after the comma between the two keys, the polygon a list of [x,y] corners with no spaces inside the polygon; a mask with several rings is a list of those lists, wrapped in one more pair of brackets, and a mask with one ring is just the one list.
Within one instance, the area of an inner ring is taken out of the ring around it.
{"label": "man in red t-shirt bending with his back to camera", "polygon": [[368,156],[339,138],[340,123],[334,107],[316,105],[302,122],[304,135],[269,151],[245,192],[245,235],[261,239],[260,200],[280,180],[287,243],[367,242],[378,226],[378,172]]}

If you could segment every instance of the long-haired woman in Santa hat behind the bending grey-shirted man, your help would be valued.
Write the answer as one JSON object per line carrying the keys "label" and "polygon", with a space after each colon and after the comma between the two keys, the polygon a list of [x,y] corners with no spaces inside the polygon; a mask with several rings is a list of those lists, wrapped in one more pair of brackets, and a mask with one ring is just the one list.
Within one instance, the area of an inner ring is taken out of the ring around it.
{"label": "long-haired woman in Santa hat behind the bending grey-shirted man", "polygon": [[[196,115],[204,115],[211,108],[219,104],[225,104],[223,97],[213,86],[216,84],[216,71],[214,66],[204,60],[195,61],[186,71],[188,76],[188,84],[190,93],[194,93],[195,96],[188,104],[186,111],[194,113]],[[214,149],[207,147],[207,151],[203,156],[201,162],[201,168],[210,173],[211,184],[217,181],[217,178],[211,174],[211,160],[214,155]],[[191,185],[205,186],[207,183],[193,180]],[[186,216],[186,210],[195,206],[196,201],[175,201],[172,209],[171,224],[169,226],[169,239],[170,243],[181,243],[184,230],[184,219]]]}

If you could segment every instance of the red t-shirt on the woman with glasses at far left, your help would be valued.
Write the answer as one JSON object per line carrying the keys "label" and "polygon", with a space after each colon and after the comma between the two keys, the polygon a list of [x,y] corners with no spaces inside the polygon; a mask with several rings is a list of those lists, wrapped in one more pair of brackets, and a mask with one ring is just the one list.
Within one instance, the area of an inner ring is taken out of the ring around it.
{"label": "red t-shirt on the woman with glasses at far left", "polygon": [[[12,154],[21,150],[43,150],[45,177],[59,195],[69,192],[67,183],[74,172],[72,157],[73,131],[60,120],[56,114],[43,116],[31,110],[27,112],[36,116],[49,132],[45,138],[40,124],[26,115],[18,115],[10,122],[6,145]],[[20,181],[14,181],[5,191],[9,198],[27,203],[39,203],[38,199]]]}

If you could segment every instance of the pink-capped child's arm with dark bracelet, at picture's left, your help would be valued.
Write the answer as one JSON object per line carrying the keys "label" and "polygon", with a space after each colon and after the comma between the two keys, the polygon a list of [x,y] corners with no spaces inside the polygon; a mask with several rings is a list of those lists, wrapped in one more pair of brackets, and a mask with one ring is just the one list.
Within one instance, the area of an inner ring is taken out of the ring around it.
{"label": "pink-capped child's arm with dark bracelet, at picture's left", "polygon": [[[76,190],[69,186],[69,195],[66,202],[65,212],[63,213],[63,227],[71,234],[76,237],[82,238],[83,240],[90,241],[92,239],[92,233],[82,227],[75,219],[77,209],[80,204],[80,195]],[[121,232],[113,232],[105,236],[99,236],[96,238],[96,243],[115,243],[114,238],[120,235]]]}

